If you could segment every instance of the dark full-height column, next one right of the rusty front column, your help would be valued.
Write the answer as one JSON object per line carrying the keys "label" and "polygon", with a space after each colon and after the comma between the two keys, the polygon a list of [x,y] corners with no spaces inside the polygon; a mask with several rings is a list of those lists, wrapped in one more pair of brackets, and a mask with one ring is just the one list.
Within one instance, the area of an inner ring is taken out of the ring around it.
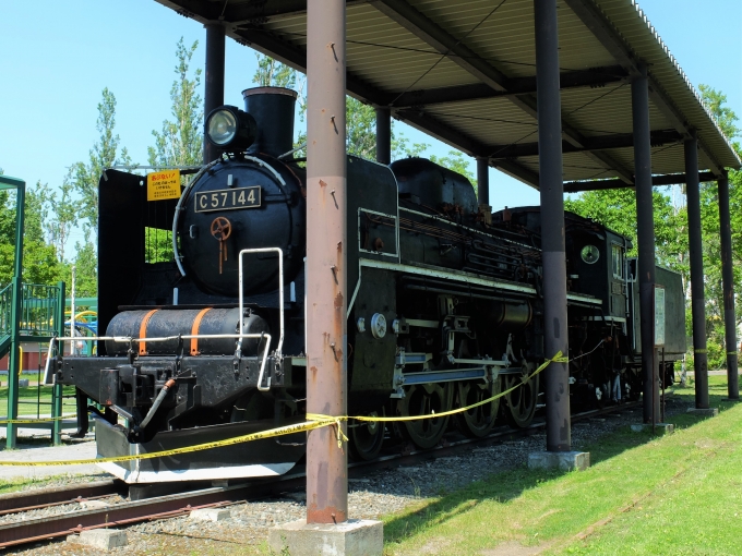
{"label": "dark full-height column, next one right of the rusty front column", "polygon": [[[534,0],[536,88],[538,101],[539,189],[543,261],[543,339],[546,355],[569,354],[566,319],[566,255],[564,253],[564,183],[562,120],[559,92],[556,0]],[[546,373],[547,450],[569,451],[570,371],[551,363]]]}

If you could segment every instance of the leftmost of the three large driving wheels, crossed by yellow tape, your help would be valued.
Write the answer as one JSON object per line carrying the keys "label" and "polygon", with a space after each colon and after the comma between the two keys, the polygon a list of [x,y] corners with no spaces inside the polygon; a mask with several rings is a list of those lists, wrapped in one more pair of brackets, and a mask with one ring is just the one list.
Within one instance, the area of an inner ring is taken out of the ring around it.
{"label": "leftmost of the three large driving wheels, crossed by yellow tape", "polygon": [[[405,397],[397,402],[397,414],[400,416],[429,415],[450,411],[454,402],[454,389],[451,383],[412,385],[405,391]],[[422,449],[435,446],[448,426],[448,416],[403,421],[402,434],[415,446]]]}

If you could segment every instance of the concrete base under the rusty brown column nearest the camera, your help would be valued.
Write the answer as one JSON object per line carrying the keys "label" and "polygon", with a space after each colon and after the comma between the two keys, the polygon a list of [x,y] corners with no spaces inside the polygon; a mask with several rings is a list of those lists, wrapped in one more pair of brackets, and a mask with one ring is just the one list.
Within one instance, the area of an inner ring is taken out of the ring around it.
{"label": "concrete base under the rusty brown column nearest the camera", "polygon": [[272,528],[268,545],[277,554],[288,551],[291,556],[381,556],[384,524],[367,519],[308,524],[300,519]]}

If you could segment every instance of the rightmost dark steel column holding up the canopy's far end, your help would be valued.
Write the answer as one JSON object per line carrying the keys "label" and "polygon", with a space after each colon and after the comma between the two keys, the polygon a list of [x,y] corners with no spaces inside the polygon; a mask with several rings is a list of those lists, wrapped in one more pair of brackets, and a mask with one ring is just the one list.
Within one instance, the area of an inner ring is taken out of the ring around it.
{"label": "rightmost dark steel column holding up the canopy's far end", "polygon": [[729,219],[729,178],[717,181],[719,193],[719,228],[721,234],[721,278],[723,281],[723,324],[727,349],[727,389],[730,400],[740,399],[737,367],[737,318],[734,316],[734,273],[732,269],[732,227]]}

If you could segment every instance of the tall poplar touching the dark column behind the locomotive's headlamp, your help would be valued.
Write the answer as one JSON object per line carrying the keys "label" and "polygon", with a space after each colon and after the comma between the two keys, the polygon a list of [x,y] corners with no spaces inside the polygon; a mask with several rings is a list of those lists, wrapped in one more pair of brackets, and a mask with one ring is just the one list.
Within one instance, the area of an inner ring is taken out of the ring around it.
{"label": "tall poplar touching the dark column behind the locomotive's headlamp", "polygon": [[163,122],[163,131],[153,131],[155,146],[148,147],[151,166],[199,166],[203,161],[203,108],[198,89],[201,85],[201,70],[190,77],[191,58],[199,46],[196,40],[185,48],[180,37],[176,48],[176,74],[170,99],[172,121]]}

